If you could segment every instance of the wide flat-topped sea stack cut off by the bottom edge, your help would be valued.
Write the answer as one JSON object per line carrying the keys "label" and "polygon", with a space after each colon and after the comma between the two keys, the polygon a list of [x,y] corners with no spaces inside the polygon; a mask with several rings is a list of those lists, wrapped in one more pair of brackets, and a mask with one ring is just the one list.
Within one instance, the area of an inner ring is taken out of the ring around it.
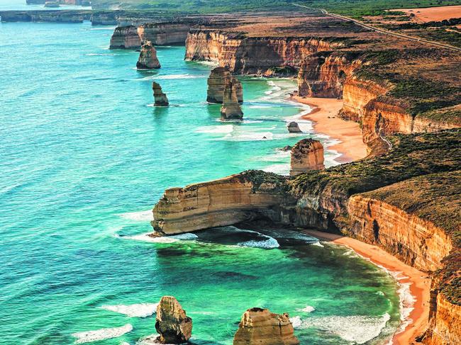
{"label": "wide flat-topped sea stack cut off by the bottom edge", "polygon": [[299,340],[289,315],[251,308],[243,313],[233,345],[296,345]]}

